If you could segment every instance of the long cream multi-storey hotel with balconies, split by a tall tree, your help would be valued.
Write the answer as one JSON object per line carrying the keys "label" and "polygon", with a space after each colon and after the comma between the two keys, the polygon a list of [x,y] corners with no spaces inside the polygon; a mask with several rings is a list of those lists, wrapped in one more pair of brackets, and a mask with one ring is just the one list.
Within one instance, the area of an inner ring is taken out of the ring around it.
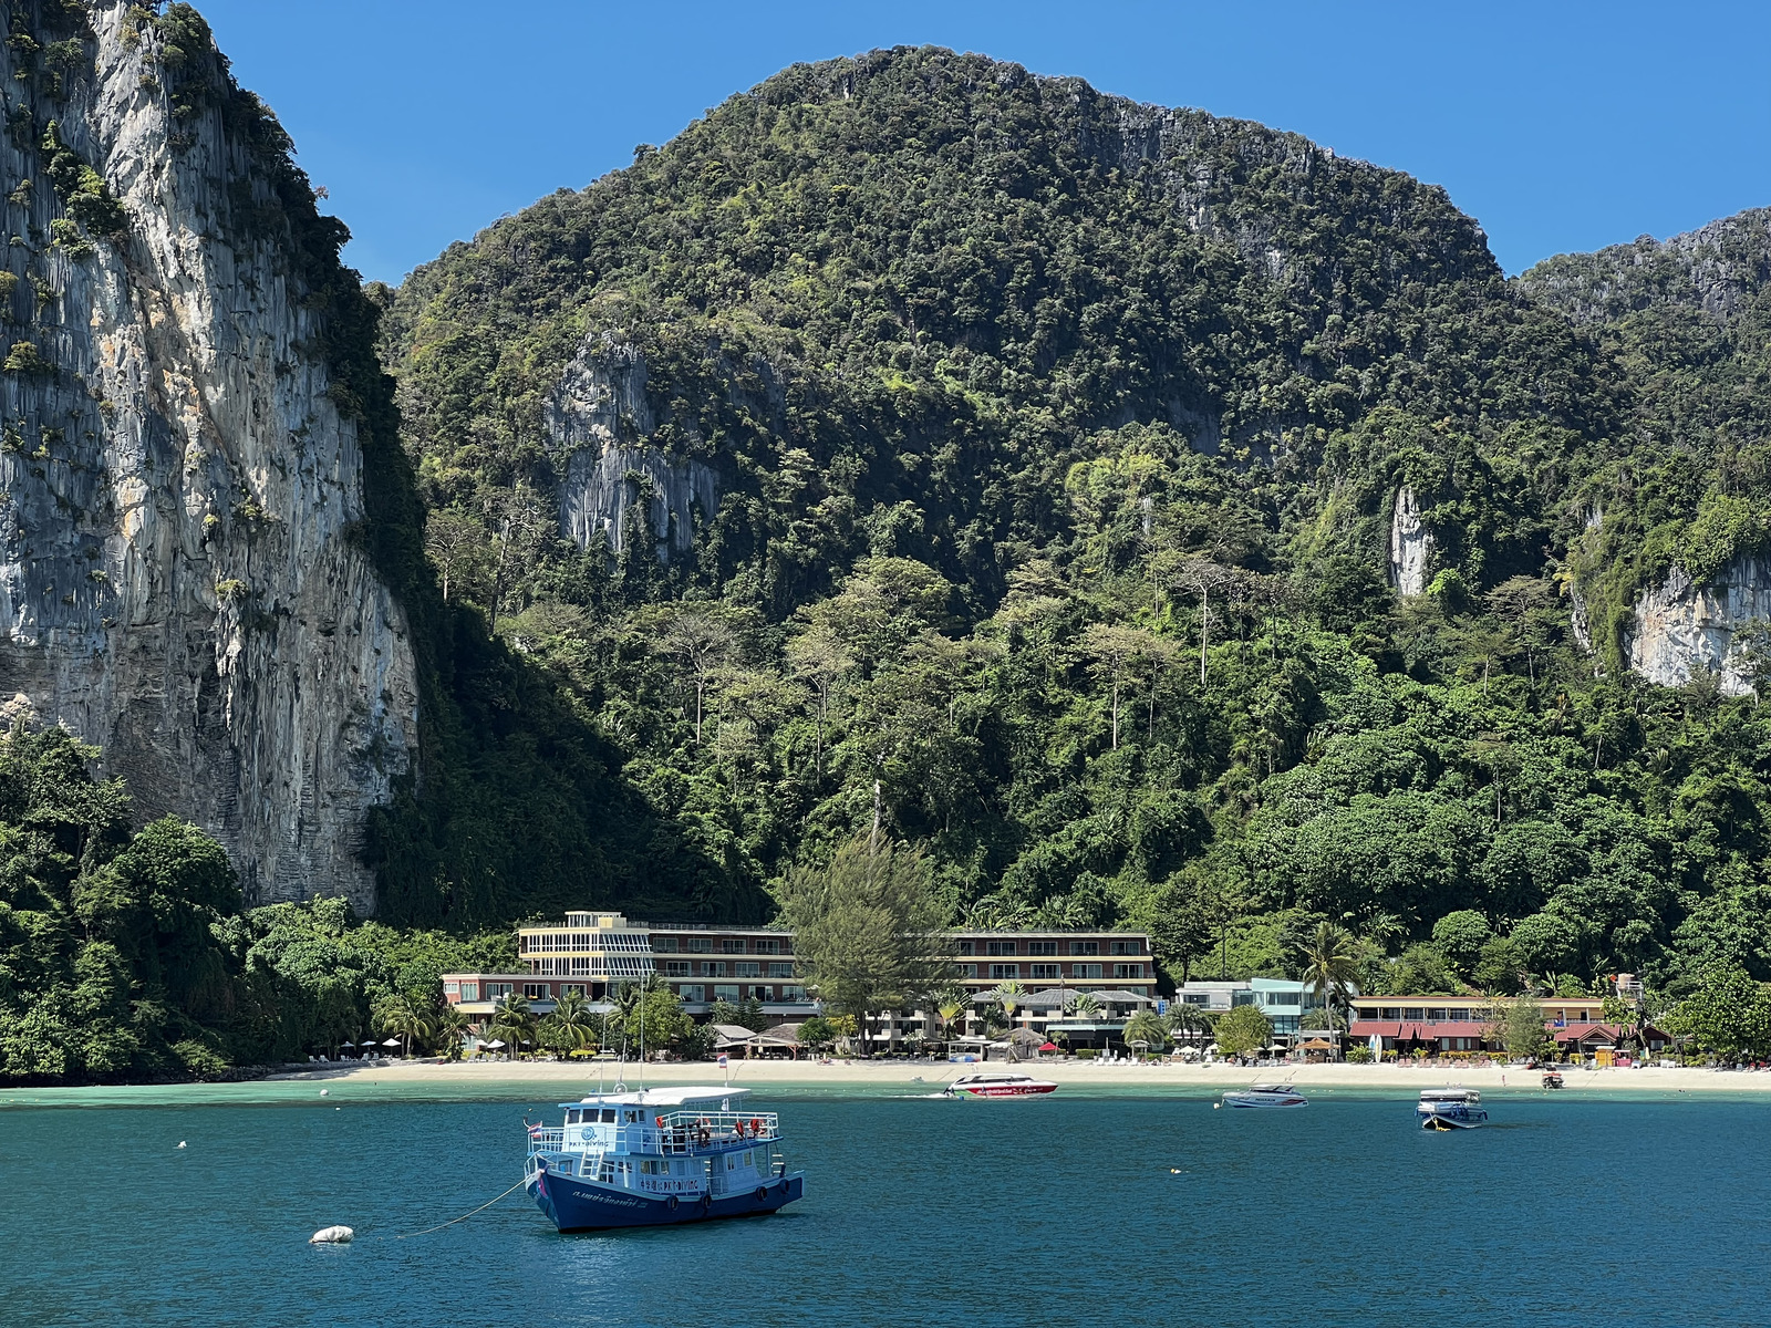
{"label": "long cream multi-storey hotel with balconies, split by a tall tree", "polygon": [[[969,1004],[1006,983],[1022,988],[1013,1022],[1038,1032],[1068,1032],[1080,1041],[1110,1032],[1156,999],[1149,937],[1142,931],[958,931],[953,981]],[[793,967],[793,933],[712,923],[639,923],[622,914],[567,914],[563,923],[517,928],[519,974],[445,974],[443,997],[476,1023],[498,1002],[521,992],[542,1015],[567,990],[592,1002],[620,983],[657,972],[682,997],[684,1009],[705,1016],[714,1002],[756,1000],[783,1022],[806,1018],[818,1004]],[[1082,993],[1094,1011],[1066,1015]],[[939,1018],[907,1011],[871,1018],[868,1038],[894,1043],[939,1036]],[[976,1015],[965,1031],[981,1031]]]}

